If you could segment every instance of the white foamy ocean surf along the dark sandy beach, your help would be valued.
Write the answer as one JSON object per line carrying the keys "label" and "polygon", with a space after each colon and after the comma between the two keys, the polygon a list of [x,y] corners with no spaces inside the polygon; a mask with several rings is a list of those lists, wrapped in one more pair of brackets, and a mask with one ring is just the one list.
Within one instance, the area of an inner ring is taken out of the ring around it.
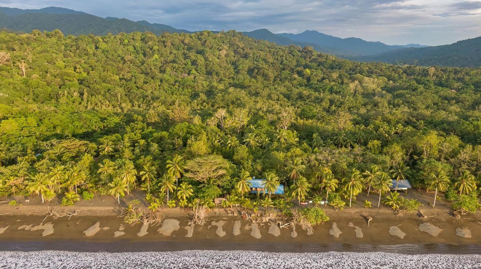
{"label": "white foamy ocean surf along the dark sandy beach", "polygon": [[481,269],[479,254],[1,251],[0,269]]}

